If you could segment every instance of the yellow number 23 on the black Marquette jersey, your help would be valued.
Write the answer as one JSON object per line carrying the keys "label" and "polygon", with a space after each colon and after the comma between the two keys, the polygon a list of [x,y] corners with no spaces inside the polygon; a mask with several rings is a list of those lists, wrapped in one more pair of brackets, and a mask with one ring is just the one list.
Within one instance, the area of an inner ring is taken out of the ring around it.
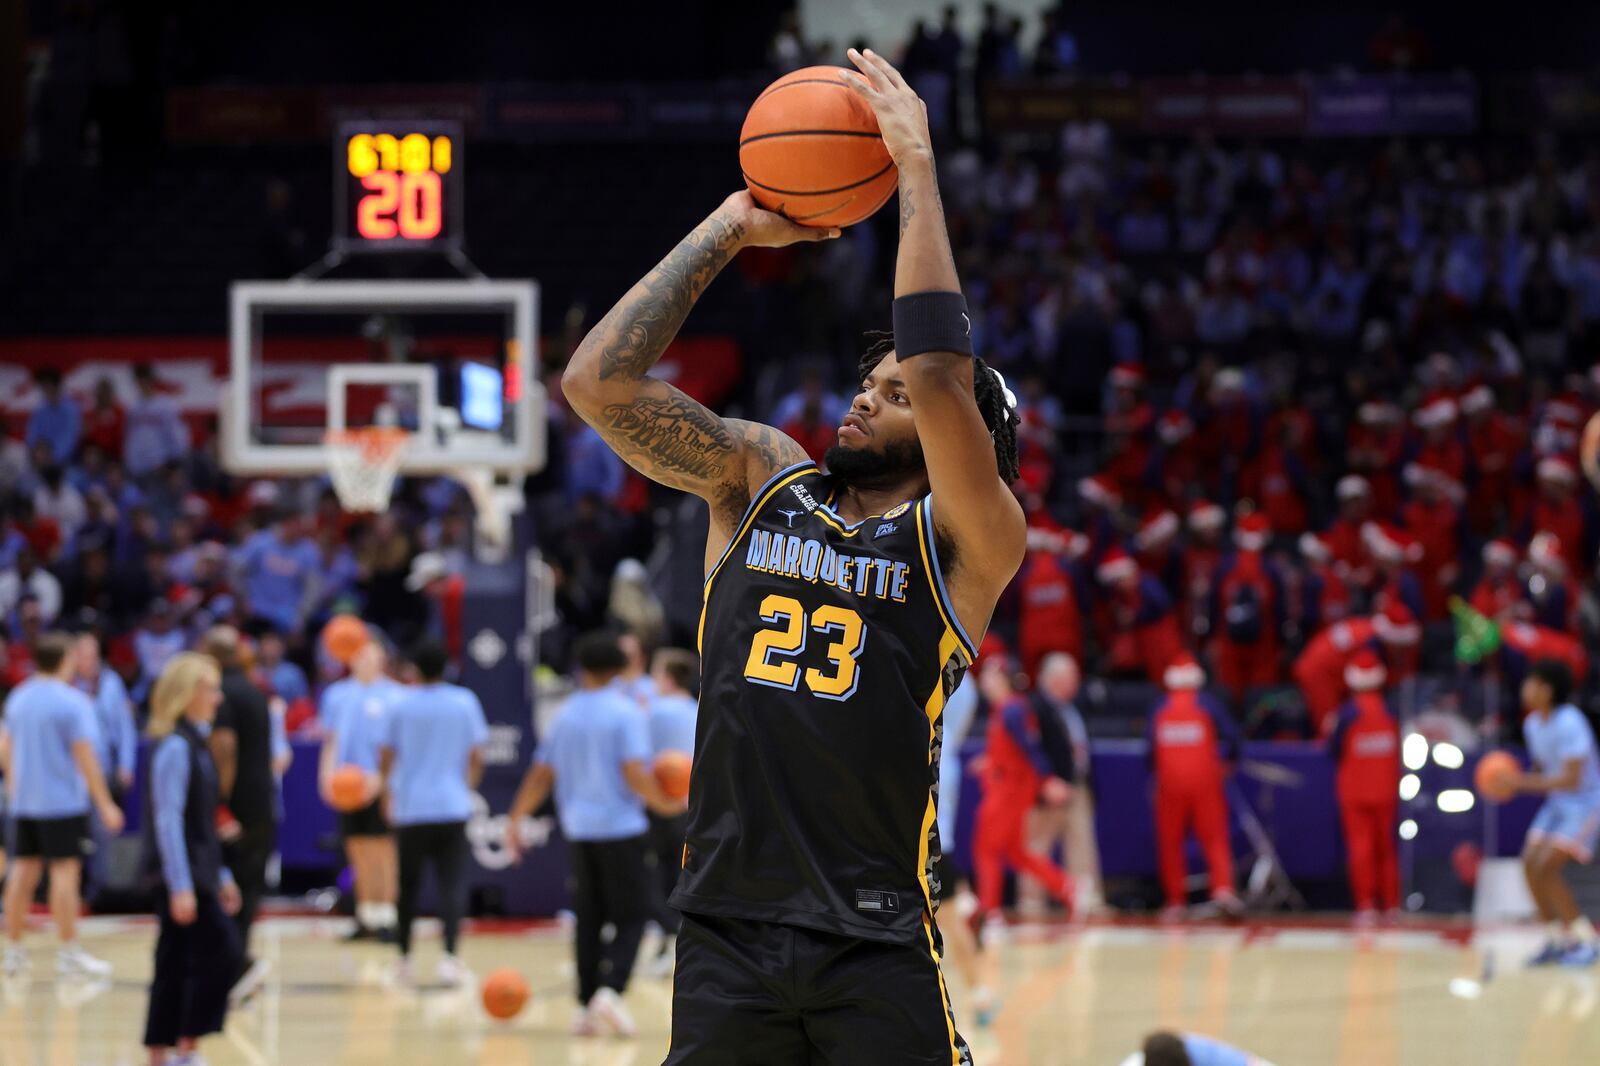
{"label": "yellow number 23 on the black Marquette jersey", "polygon": [[795,658],[805,651],[811,634],[835,637],[827,645],[827,661],[832,669],[806,667],[803,680],[819,699],[848,699],[856,693],[861,666],[856,663],[867,643],[867,627],[861,615],[848,607],[827,603],[806,616],[800,600],[790,595],[768,595],[762,600],[762,621],[766,629],[750,642],[750,658],[744,661],[744,679],[755,685],[771,685],[795,691],[802,682],[800,663]]}

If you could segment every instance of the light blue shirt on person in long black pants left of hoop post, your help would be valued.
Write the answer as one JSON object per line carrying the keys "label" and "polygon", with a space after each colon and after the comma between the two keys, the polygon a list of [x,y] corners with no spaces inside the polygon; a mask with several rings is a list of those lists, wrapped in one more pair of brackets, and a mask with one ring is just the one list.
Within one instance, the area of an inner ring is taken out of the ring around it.
{"label": "light blue shirt on person in long black pants left of hoop post", "polygon": [[470,688],[448,682],[406,688],[382,727],[382,746],[395,752],[389,783],[395,824],[470,818],[467,759],[488,739],[483,704]]}

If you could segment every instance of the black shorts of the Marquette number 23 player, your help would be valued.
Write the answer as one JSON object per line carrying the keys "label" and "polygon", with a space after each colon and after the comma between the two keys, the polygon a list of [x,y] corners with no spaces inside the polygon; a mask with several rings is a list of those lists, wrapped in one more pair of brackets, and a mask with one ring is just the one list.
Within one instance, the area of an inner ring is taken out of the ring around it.
{"label": "black shorts of the Marquette number 23 player", "polygon": [[971,1066],[926,928],[893,944],[685,914],[666,1066]]}

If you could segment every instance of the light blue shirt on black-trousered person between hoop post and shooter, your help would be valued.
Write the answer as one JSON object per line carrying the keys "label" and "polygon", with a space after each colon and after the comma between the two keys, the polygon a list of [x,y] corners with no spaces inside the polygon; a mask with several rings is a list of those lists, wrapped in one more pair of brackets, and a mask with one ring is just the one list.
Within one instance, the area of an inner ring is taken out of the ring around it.
{"label": "light blue shirt on black-trousered person between hoop post and shooter", "polygon": [[555,813],[568,840],[624,840],[650,829],[645,800],[627,786],[622,763],[651,763],[645,714],[616,687],[568,698],[533,754],[555,771]]}

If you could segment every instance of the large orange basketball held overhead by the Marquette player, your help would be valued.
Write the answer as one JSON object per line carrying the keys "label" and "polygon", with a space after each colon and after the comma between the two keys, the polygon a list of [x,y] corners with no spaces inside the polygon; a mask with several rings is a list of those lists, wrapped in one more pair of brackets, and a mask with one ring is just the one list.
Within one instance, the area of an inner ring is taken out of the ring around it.
{"label": "large orange basketball held overhead by the Marquette player", "polygon": [[853,226],[883,206],[899,182],[877,115],[840,80],[842,70],[786,74],[755,98],[739,131],[750,195],[802,226]]}

